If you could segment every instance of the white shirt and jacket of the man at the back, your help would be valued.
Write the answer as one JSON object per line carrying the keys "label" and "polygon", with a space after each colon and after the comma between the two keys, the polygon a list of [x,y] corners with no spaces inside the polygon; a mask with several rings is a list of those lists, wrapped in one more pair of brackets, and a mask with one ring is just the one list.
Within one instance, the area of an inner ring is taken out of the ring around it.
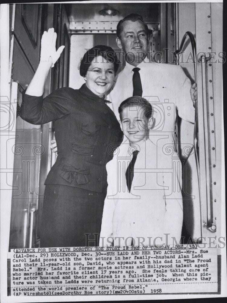
{"label": "white shirt and jacket of the man at the back", "polygon": [[[178,115],[186,121],[194,123],[195,110],[190,95],[191,82],[179,65],[155,63],[145,58],[138,66],[143,89],[142,97],[153,107],[154,131],[163,139],[163,145],[176,143],[175,125],[176,109]],[[132,69],[134,66],[126,62],[119,73],[117,82],[107,96],[119,120],[118,107],[122,101],[133,95]],[[183,142],[188,143],[188,142]]]}

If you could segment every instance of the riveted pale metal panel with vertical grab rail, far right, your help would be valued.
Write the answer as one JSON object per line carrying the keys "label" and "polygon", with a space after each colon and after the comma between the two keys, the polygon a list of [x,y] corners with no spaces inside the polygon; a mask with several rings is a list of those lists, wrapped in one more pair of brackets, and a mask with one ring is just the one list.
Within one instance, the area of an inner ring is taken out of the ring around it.
{"label": "riveted pale metal panel with vertical grab rail, far right", "polygon": [[[216,162],[216,158],[220,157],[216,151],[216,144],[219,145],[222,140],[220,129],[223,127],[223,122],[221,117],[222,98],[220,92],[217,93],[219,87],[217,81],[221,82],[222,73],[216,73],[218,70],[221,71],[222,65],[215,62],[215,59],[217,59],[218,52],[221,51],[220,43],[222,42],[217,43],[217,41],[222,41],[220,39],[222,28],[217,21],[217,17],[222,18],[222,7],[220,5],[213,6],[211,10],[210,3],[196,3],[195,6],[197,53],[200,54],[197,64],[197,79],[199,162],[200,175],[203,178],[200,182],[203,236],[216,236],[216,213],[219,212],[220,218],[222,189],[220,179],[222,167],[221,161]],[[202,10],[203,14],[201,15]],[[216,38],[214,38],[215,35]],[[216,52],[214,59],[211,56],[213,51]],[[217,135],[220,141],[217,141]],[[221,145],[219,148],[221,148]]]}

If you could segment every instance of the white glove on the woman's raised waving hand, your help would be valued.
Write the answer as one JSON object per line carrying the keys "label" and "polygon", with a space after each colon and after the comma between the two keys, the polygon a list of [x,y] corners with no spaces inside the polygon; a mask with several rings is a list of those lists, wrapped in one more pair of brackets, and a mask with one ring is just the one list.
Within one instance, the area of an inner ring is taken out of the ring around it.
{"label": "white glove on the woman's raised waving hand", "polygon": [[48,32],[45,31],[41,39],[40,61],[49,61],[51,57],[52,67],[54,67],[54,63],[60,57],[65,47],[64,45],[62,45],[56,51],[56,39],[57,33],[54,32],[54,28],[49,28]]}

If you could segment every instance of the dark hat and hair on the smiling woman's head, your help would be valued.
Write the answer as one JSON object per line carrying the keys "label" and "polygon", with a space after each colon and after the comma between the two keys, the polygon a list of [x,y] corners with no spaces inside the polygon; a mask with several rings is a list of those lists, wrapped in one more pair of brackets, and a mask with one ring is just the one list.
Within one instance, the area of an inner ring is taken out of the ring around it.
{"label": "dark hat and hair on the smiling woman's head", "polygon": [[114,64],[114,72],[116,74],[118,67],[119,67],[119,61],[118,58],[114,52],[114,50],[106,45],[96,45],[92,48],[90,48],[83,56],[83,59],[80,63],[79,73],[82,77],[86,76],[87,70],[89,66],[91,65],[91,62],[94,58],[102,56],[104,59],[106,59],[109,63]]}

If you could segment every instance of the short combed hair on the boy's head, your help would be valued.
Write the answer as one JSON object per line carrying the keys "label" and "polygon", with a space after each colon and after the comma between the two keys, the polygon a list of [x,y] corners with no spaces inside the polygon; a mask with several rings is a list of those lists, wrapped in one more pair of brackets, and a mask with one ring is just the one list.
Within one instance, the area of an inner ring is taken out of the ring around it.
{"label": "short combed hair on the boy's head", "polygon": [[122,113],[123,109],[126,107],[129,107],[129,106],[141,106],[144,109],[145,118],[148,120],[151,118],[152,106],[148,102],[148,100],[146,100],[140,96],[133,96],[133,97],[129,97],[126,100],[124,100],[118,107],[120,119],[122,118],[121,113]]}

